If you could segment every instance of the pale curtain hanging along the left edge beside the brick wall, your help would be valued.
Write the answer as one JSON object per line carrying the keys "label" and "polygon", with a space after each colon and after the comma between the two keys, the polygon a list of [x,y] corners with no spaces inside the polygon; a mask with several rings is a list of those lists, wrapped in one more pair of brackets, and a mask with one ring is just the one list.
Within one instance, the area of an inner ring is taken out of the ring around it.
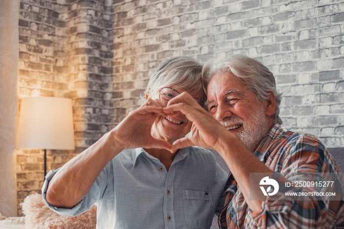
{"label": "pale curtain hanging along the left edge beside the brick wall", "polygon": [[0,0],[0,213],[17,216],[16,131],[20,0]]}

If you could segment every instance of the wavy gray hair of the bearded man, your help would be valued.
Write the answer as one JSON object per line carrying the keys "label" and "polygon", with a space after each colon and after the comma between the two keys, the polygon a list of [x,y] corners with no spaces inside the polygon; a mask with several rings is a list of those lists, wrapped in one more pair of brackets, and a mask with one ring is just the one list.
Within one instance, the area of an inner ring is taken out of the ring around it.
{"label": "wavy gray hair of the bearded man", "polygon": [[269,98],[269,93],[274,93],[277,106],[272,118],[275,123],[282,124],[282,119],[279,116],[282,93],[277,93],[275,77],[267,67],[258,60],[244,55],[233,55],[226,61],[211,59],[202,70],[205,88],[217,72],[233,73],[248,86],[248,89],[256,94],[260,101],[266,101]]}

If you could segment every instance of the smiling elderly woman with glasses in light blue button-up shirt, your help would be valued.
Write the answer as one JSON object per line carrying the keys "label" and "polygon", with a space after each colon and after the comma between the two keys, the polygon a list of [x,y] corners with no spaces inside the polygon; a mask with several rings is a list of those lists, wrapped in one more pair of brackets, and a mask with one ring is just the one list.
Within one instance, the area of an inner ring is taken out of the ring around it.
{"label": "smiling elderly woman with glasses in light blue button-up shirt", "polygon": [[159,65],[145,102],[84,152],[46,176],[42,196],[61,215],[78,215],[95,203],[97,228],[209,228],[224,206],[225,173],[211,152],[172,143],[192,123],[166,115],[169,100],[188,92],[203,106],[202,66],[190,57]]}

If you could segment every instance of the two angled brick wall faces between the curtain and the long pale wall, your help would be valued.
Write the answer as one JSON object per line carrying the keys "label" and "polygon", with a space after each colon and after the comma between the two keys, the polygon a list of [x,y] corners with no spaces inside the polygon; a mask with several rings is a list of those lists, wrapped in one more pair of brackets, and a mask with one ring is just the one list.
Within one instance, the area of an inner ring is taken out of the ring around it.
{"label": "two angled brick wall faces between the curtain and the long pale wall", "polygon": [[[103,1],[21,0],[19,97],[56,96],[73,101],[75,151],[48,150],[57,169],[114,127],[125,111],[113,108],[112,7]],[[43,150],[17,151],[19,205],[41,193]]]}

